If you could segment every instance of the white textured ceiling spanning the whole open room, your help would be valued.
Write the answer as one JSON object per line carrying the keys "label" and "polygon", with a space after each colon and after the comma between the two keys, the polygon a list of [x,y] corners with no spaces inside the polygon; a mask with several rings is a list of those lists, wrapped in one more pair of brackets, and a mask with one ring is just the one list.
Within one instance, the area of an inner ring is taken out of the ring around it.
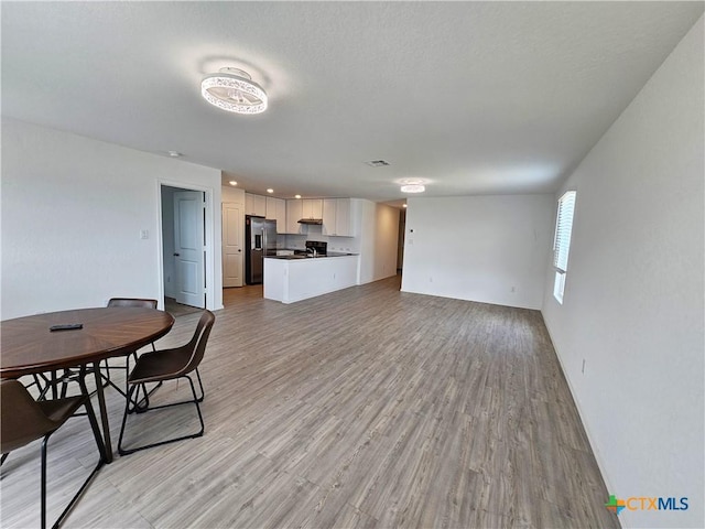
{"label": "white textured ceiling spanning the whole open room", "polygon": [[[703,2],[2,2],[2,114],[276,196],[555,191]],[[248,71],[258,116],[209,106]],[[369,160],[391,165],[373,169]]]}

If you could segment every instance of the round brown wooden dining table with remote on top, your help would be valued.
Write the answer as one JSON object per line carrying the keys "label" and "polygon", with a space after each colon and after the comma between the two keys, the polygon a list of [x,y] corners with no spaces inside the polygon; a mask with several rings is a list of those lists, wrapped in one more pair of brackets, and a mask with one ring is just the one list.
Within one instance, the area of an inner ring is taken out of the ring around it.
{"label": "round brown wooden dining table with remote on top", "polygon": [[[51,331],[63,324],[82,328]],[[112,445],[99,364],[106,358],[127,356],[164,336],[174,325],[167,312],[144,307],[101,307],[35,314],[0,322],[0,377],[93,366],[105,438],[107,462]]]}

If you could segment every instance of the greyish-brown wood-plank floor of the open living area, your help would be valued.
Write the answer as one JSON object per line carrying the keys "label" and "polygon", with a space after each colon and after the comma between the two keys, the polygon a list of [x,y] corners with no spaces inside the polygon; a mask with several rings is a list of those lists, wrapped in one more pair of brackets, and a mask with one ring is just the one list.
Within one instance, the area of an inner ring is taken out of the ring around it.
{"label": "greyish-brown wood-plank floor of the open living area", "polygon": [[[205,435],[116,457],[65,527],[619,527],[540,312],[398,278],[291,305],[261,292],[225,291]],[[117,444],[123,401],[107,396]],[[126,441],[175,428],[197,428],[193,407],[131,415]],[[54,435],[50,519],[96,458],[85,418]],[[1,493],[3,528],[39,527],[39,442],[10,454]]]}

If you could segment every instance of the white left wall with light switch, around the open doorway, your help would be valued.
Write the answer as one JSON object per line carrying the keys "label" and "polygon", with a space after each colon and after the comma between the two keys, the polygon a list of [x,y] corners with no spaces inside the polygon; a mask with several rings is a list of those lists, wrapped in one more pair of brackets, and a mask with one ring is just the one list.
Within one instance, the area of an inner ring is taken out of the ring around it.
{"label": "white left wall with light switch, around the open doorway", "polygon": [[3,117],[0,317],[161,301],[160,182],[209,190],[208,306],[220,307],[219,171]]}

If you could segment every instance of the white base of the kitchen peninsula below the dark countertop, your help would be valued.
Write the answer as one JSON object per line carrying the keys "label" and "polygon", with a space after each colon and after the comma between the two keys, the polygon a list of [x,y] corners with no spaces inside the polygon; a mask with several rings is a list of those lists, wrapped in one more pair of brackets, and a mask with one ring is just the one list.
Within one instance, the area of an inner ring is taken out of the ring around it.
{"label": "white base of the kitchen peninsula below the dark countertop", "polygon": [[278,256],[264,258],[264,298],[295,303],[358,282],[360,257],[336,253],[318,257]]}

